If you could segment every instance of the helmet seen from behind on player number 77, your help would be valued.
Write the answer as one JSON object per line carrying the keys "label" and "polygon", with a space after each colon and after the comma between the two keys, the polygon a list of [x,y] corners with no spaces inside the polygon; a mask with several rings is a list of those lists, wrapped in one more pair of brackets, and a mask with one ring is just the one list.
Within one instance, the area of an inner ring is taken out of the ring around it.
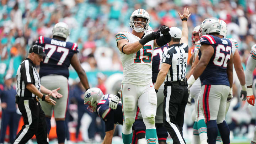
{"label": "helmet seen from behind on player number 77", "polygon": [[66,39],[69,36],[68,25],[64,22],[56,23],[52,30],[52,36],[59,36]]}

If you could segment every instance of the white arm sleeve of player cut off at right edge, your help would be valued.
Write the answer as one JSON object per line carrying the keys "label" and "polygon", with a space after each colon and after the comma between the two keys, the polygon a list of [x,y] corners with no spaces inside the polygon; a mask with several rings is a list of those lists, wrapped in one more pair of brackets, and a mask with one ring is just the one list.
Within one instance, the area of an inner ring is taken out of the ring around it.
{"label": "white arm sleeve of player cut off at right edge", "polygon": [[256,66],[256,59],[254,57],[249,57],[246,64],[246,71],[245,71],[245,83],[246,86],[252,85],[253,75],[252,72],[254,71]]}

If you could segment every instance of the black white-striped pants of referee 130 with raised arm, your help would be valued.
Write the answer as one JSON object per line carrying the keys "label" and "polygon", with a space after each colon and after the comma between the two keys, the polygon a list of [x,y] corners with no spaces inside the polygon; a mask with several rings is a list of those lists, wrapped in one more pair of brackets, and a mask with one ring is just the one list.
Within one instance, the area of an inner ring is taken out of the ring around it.
{"label": "black white-striped pants of referee 130 with raised arm", "polygon": [[182,136],[184,112],[188,101],[187,86],[172,85],[164,89],[163,121],[173,144],[186,144]]}

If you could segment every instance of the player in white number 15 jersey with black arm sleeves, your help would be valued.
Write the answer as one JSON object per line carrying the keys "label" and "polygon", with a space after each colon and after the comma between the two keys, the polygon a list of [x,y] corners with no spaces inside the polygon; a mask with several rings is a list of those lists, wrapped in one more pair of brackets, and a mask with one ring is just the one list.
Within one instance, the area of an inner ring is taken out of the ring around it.
{"label": "player in white number 15 jersey with black arm sleeves", "polygon": [[[156,144],[156,92],[152,83],[152,53],[154,47],[164,46],[171,40],[169,27],[148,31],[150,17],[144,9],[135,10],[130,16],[132,32],[116,34],[123,65],[121,101],[123,109],[123,143],[132,143],[132,125],[137,105],[146,126],[148,144]],[[160,37],[160,31],[163,36]]]}

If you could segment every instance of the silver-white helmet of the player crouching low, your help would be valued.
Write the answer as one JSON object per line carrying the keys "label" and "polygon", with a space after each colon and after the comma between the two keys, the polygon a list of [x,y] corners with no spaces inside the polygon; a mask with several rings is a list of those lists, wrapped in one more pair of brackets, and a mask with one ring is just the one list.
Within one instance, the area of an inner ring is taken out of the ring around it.
{"label": "silver-white helmet of the player crouching low", "polygon": [[84,94],[84,103],[88,105],[87,110],[95,112],[97,104],[103,99],[102,96],[103,92],[97,87],[87,90]]}

